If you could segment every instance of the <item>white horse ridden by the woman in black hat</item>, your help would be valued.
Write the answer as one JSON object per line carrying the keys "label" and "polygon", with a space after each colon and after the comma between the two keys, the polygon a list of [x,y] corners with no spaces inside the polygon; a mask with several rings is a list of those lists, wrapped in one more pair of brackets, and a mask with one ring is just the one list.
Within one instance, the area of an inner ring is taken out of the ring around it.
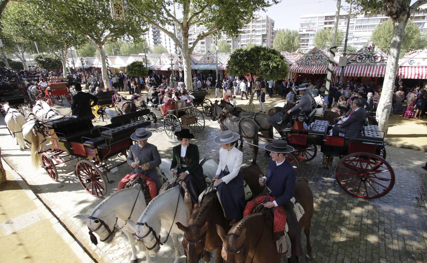
{"label": "white horse ridden by the woman in black hat", "polygon": [[180,188],[175,186],[152,199],[137,224],[134,220],[126,220],[126,223],[134,229],[137,239],[143,241],[146,248],[154,253],[157,253],[161,243],[167,240],[167,237],[160,237],[161,228],[170,230],[169,235],[175,248],[174,263],[178,263],[180,257],[177,234],[184,234],[175,223],[181,222],[187,226],[189,217]]}

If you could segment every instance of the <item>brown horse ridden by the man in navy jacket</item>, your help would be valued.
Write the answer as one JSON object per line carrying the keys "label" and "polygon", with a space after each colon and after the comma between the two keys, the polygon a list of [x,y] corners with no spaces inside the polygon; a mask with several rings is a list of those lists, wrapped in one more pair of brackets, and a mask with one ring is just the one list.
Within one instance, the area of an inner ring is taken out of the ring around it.
{"label": "brown horse ridden by the man in navy jacket", "polygon": [[[312,259],[310,245],[310,225],[313,217],[313,193],[308,181],[303,179],[295,183],[295,199],[304,208],[304,215],[299,220],[300,229],[304,228],[307,238],[307,259]],[[246,231],[249,229],[250,231]],[[271,213],[252,213],[234,225],[228,234],[220,225],[216,230],[223,245],[221,255],[228,263],[279,263],[281,255],[277,252],[273,240],[273,220]]]}

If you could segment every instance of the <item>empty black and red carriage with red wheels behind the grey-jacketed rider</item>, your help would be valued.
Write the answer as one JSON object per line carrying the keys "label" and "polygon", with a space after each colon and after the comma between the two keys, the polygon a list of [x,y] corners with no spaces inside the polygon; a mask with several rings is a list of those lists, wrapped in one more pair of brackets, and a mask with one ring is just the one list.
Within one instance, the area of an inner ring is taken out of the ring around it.
{"label": "empty black and red carriage with red wheels behind the grey-jacketed rider", "polygon": [[116,167],[126,163],[126,159],[120,159],[118,163],[111,164],[107,162],[108,158],[126,155],[132,145],[130,135],[136,129],[150,125],[147,121],[132,120],[147,113],[149,110],[113,117],[111,124],[105,126],[93,126],[92,115],[65,117],[45,123],[45,135],[51,148],[38,152],[44,169],[50,178],[57,181],[56,166],[77,159],[76,176],[83,188],[95,197],[103,197],[109,182],[107,173],[115,172]]}

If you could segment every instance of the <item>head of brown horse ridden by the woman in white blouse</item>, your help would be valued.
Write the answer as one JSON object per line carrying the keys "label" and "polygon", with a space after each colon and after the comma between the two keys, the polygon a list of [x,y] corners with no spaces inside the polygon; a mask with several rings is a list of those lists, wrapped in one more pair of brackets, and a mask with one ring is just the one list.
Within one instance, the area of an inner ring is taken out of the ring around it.
{"label": "head of brown horse ridden by the woman in white blouse", "polygon": [[[194,212],[193,212],[194,213]],[[199,210],[196,210],[199,213]],[[187,254],[187,263],[199,262],[205,254],[206,231],[208,230],[208,222],[200,226],[191,224],[187,227],[177,222],[178,228],[184,232],[182,247]]]}

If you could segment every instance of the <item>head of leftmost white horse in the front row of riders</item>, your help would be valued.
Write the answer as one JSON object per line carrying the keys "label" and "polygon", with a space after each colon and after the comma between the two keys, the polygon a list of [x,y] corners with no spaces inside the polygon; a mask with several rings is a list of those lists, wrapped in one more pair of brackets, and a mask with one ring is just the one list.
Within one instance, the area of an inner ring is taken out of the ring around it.
{"label": "head of leftmost white horse in the front row of riders", "polygon": [[87,218],[83,215],[74,216],[74,218],[80,219],[88,225],[89,228],[89,236],[91,237],[92,243],[97,245],[98,240],[97,237],[94,236],[93,232],[95,232],[99,240],[104,243],[110,243],[114,238],[114,225],[116,224],[116,216],[112,214],[111,216],[103,216],[102,218],[97,218],[94,216],[89,216]]}

